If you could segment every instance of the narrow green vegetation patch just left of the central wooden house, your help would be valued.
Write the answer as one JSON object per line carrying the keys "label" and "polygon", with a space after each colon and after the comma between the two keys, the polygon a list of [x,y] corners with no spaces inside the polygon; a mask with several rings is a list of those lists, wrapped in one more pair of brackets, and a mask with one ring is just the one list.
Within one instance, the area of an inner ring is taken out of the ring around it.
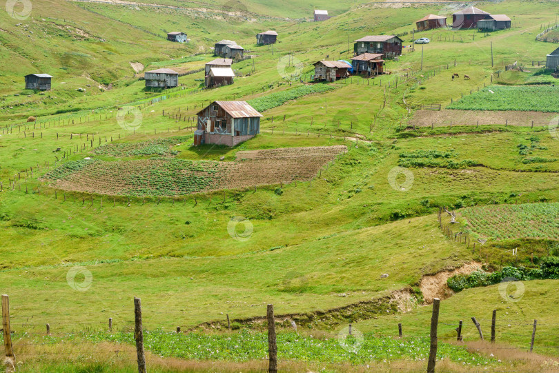
{"label": "narrow green vegetation patch just left of the central wooden house", "polygon": [[177,155],[179,152],[170,150],[172,145],[177,145],[188,141],[189,137],[169,137],[166,139],[156,139],[141,141],[139,143],[111,143],[103,145],[94,150],[95,154],[106,154],[112,157],[133,157],[135,155]]}

